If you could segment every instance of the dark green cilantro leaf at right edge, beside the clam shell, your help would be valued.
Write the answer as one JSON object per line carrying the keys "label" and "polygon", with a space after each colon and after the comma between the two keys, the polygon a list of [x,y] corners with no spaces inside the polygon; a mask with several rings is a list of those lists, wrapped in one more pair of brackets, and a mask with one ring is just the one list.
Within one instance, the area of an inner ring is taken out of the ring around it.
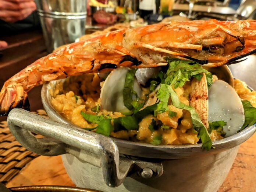
{"label": "dark green cilantro leaf at right edge, beside the clam shell", "polygon": [[256,123],[256,108],[253,107],[250,101],[247,100],[243,100],[242,104],[245,111],[245,122],[243,123],[243,126],[239,131]]}

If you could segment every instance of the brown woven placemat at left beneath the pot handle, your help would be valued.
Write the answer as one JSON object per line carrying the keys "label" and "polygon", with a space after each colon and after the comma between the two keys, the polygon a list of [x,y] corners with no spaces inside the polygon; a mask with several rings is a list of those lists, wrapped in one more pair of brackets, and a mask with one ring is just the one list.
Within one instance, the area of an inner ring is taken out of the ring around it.
{"label": "brown woven placemat at left beneath the pot handle", "polygon": [[[47,117],[44,110],[37,110],[35,113]],[[3,184],[10,181],[26,164],[38,156],[15,140],[6,121],[0,122],[0,181]]]}

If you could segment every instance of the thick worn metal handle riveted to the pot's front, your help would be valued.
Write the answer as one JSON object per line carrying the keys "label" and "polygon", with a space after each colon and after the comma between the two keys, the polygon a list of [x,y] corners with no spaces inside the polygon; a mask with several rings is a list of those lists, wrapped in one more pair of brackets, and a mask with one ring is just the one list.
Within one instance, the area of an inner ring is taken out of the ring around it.
{"label": "thick worn metal handle riveted to the pot's front", "polygon": [[[99,165],[103,171],[105,183],[110,187],[118,187],[134,165],[140,167],[141,176],[149,177],[148,169],[154,172],[153,177],[159,177],[163,173],[161,163],[150,163],[141,160],[133,160],[119,157],[117,145],[109,137],[95,134],[88,130],[76,128],[64,123],[52,121],[48,118],[15,108],[10,111],[7,118],[11,133],[29,151],[45,156],[56,156],[70,153],[79,159],[95,165],[88,156],[100,159]],[[45,136],[36,138],[35,134]],[[78,151],[78,152],[77,152]],[[122,169],[119,169],[119,165]],[[114,169],[113,169],[114,168]],[[143,170],[145,170],[143,173]],[[144,175],[144,176],[143,176]]]}

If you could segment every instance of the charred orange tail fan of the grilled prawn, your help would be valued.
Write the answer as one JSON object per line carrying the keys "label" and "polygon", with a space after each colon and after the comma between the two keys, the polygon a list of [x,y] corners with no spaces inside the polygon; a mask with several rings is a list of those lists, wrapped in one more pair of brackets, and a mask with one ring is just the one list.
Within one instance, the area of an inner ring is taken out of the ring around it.
{"label": "charred orange tail fan of the grilled prawn", "polygon": [[0,116],[6,116],[13,108],[30,110],[28,94],[21,84],[11,82],[4,84],[0,92]]}

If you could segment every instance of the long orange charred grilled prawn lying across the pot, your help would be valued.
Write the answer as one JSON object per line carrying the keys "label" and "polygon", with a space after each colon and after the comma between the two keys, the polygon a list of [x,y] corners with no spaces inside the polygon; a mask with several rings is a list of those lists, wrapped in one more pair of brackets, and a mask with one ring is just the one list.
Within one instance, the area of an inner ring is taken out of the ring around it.
{"label": "long orange charred grilled prawn lying across the pot", "polygon": [[166,56],[217,67],[255,52],[256,20],[185,21],[114,31],[67,45],[11,77],[0,92],[0,114],[28,109],[29,90],[72,75],[163,66]]}

